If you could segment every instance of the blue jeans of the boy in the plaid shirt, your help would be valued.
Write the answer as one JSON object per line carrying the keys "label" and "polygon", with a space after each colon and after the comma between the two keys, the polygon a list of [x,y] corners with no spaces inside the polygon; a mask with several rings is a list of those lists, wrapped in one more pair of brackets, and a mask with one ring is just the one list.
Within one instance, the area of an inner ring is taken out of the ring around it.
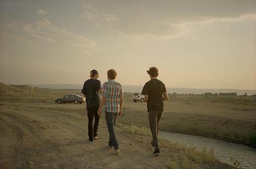
{"label": "blue jeans of the boy in the plaid shirt", "polygon": [[109,133],[108,146],[114,147],[115,150],[118,149],[118,139],[115,134],[115,125],[116,125],[116,117],[118,116],[118,112],[107,112],[105,111],[105,118],[107,122],[107,129]]}

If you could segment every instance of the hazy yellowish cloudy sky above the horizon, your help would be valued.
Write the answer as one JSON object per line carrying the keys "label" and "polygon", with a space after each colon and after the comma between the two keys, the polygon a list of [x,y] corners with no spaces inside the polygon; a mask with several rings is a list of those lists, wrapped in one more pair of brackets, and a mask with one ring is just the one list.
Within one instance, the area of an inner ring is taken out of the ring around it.
{"label": "hazy yellowish cloudy sky above the horizon", "polygon": [[0,1],[0,82],[256,89],[256,0]]}

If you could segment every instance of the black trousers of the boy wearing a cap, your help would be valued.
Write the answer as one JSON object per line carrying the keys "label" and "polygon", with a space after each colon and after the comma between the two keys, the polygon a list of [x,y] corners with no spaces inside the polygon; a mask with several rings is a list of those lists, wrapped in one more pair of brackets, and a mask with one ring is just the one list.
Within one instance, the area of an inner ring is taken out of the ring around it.
{"label": "black trousers of the boy wearing a cap", "polygon": [[[87,108],[87,116],[88,116],[88,136],[89,139],[93,139],[93,137],[98,136],[98,127],[99,127],[99,118],[98,116],[99,107]],[[94,126],[93,126],[94,119]]]}

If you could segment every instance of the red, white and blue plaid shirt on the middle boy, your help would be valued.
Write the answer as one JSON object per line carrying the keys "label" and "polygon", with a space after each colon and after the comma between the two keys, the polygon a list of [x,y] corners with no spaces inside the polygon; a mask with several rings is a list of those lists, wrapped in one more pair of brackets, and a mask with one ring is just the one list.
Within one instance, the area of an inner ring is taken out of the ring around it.
{"label": "red, white and blue plaid shirt on the middle boy", "polygon": [[109,80],[103,83],[102,96],[107,98],[103,109],[104,111],[120,111],[119,99],[123,97],[123,89],[120,83],[117,83],[115,80]]}

